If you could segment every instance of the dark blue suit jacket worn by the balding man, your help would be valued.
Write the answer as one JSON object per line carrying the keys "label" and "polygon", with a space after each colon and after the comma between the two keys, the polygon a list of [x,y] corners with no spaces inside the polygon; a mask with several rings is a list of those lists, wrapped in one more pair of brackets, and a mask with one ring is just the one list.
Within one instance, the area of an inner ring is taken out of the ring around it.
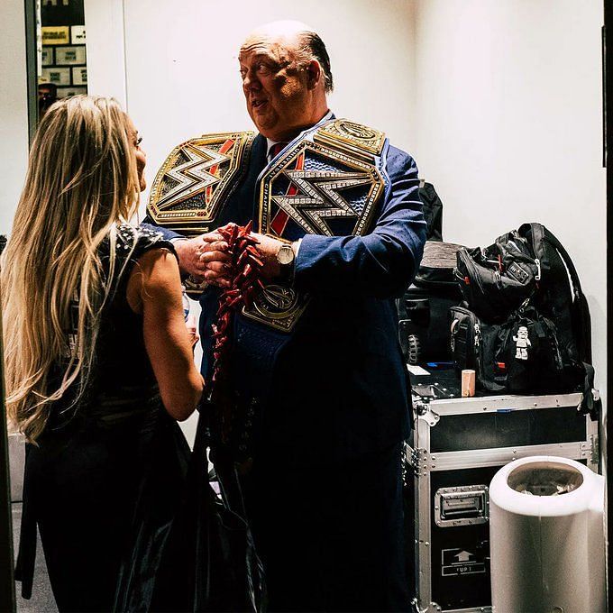
{"label": "dark blue suit jacket worn by the balding man", "polygon": [[[265,156],[266,139],[258,135],[249,169],[224,206],[220,224],[257,218],[255,183]],[[403,294],[421,260],[425,220],[415,161],[390,147],[387,173],[391,189],[371,233],[308,234],[301,242],[295,283],[311,301],[272,371],[259,453],[324,465],[376,452],[408,434],[410,387],[394,298]],[[160,230],[166,238],[178,236]],[[210,289],[200,298],[205,377],[217,297]],[[240,363],[235,373],[240,377]]]}

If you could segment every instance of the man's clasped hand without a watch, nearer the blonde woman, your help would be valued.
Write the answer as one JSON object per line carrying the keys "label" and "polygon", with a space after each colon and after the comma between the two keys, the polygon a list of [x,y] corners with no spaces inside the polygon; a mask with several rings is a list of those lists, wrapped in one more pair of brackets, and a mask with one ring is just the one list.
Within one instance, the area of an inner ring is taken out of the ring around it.
{"label": "man's clasped hand without a watch, nearer the blonde woman", "polygon": [[175,242],[180,270],[197,280],[204,279],[219,287],[230,285],[230,270],[227,267],[230,256],[226,253],[227,248],[228,243],[217,232]]}

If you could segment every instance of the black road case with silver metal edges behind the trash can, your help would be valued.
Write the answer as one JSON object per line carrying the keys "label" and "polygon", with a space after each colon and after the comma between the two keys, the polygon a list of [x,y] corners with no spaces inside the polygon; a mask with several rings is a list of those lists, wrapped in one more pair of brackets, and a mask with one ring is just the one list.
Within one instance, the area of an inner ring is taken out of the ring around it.
{"label": "black road case with silver metal edges behind the trash can", "polygon": [[581,393],[459,398],[453,370],[413,376],[407,492],[415,512],[415,610],[489,613],[489,482],[517,458],[599,469],[598,425]]}

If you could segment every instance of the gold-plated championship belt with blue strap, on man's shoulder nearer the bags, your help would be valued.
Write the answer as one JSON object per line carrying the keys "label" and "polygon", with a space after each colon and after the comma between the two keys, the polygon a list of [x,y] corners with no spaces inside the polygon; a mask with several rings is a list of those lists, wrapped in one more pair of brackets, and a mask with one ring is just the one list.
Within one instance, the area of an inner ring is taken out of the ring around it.
{"label": "gold-plated championship belt with blue strap, on man's shoulder nearer the bags", "polygon": [[[346,119],[300,134],[259,178],[259,231],[287,242],[369,233],[389,182],[381,157],[387,146],[384,133]],[[308,300],[275,281],[242,315],[289,333]]]}

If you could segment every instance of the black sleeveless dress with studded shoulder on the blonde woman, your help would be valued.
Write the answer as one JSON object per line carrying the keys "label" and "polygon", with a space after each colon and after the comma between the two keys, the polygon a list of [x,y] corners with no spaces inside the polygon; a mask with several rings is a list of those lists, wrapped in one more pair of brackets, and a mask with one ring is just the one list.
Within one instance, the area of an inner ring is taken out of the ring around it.
{"label": "black sleeveless dress with studded shoulder on the blonde woman", "polygon": [[120,569],[146,604],[183,486],[188,444],[162,406],[142,316],[126,299],[135,261],[160,248],[174,251],[157,233],[120,226],[90,388],[78,407],[53,406],[40,444],[27,447],[16,575],[29,598],[38,524],[62,612],[113,610]]}

